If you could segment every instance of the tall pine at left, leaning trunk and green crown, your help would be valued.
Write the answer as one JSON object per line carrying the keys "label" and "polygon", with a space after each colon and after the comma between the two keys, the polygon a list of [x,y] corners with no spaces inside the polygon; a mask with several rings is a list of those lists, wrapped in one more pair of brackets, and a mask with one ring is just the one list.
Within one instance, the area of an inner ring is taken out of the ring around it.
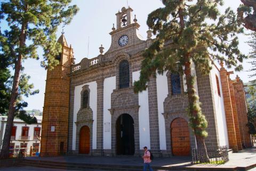
{"label": "tall pine at left, leaning trunk and green crown", "polygon": [[37,48],[44,50],[42,67],[52,69],[58,64],[55,56],[61,51],[61,45],[56,41],[56,31],[62,23],[67,25],[77,13],[76,5],[68,6],[71,0],[9,0],[1,3],[0,21],[6,20],[9,29],[8,45],[1,47],[4,55],[9,55],[14,62],[14,76],[10,96],[8,118],[5,128],[1,159],[8,158],[11,130],[15,115],[15,107],[19,94],[22,61],[33,58],[39,59]]}

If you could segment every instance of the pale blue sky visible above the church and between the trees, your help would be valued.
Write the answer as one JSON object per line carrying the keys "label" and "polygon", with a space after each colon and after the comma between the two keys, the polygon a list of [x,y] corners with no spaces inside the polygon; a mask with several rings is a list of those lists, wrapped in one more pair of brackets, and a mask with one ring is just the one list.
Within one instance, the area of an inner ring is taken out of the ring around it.
{"label": "pale blue sky visible above the church and between the trees", "polygon": [[[241,1],[239,0],[225,0],[225,5],[221,7],[221,11],[224,12],[226,7],[230,6],[236,11]],[[162,6],[160,0],[129,0],[129,6],[133,9],[133,14],[136,14],[138,23],[141,25],[139,34],[146,39],[146,31],[148,27],[146,25],[147,15]],[[98,56],[99,47],[102,44],[105,47],[105,52],[110,47],[111,37],[109,32],[113,27],[113,23],[116,25],[116,13],[121,10],[123,6],[127,6],[126,0],[73,0],[73,4],[78,5],[79,12],[74,17],[70,25],[64,28],[65,37],[68,44],[74,48],[74,55],[76,63],[79,63],[83,58],[94,58]],[[2,23],[1,23],[2,25]],[[58,37],[61,35],[62,28],[59,28]],[[89,52],[87,50],[88,39],[90,37]],[[239,48],[247,54],[250,51],[250,47],[245,43],[248,37],[239,35]],[[38,51],[41,54],[42,52]],[[87,54],[89,53],[89,56]],[[23,63],[26,74],[31,76],[30,83],[34,83],[35,88],[39,89],[39,94],[30,96],[25,99],[28,102],[28,110],[39,109],[43,110],[44,104],[44,92],[45,92],[45,80],[46,71],[40,66],[40,62],[36,60],[26,60]],[[245,70],[249,69],[250,64],[244,62]],[[238,75],[248,82],[248,72],[239,72]],[[235,78],[235,75],[232,78]]]}

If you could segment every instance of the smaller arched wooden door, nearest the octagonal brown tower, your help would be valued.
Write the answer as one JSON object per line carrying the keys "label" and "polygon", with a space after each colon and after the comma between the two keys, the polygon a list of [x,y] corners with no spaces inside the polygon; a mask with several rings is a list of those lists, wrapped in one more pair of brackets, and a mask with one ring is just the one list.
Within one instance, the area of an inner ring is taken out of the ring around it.
{"label": "smaller arched wooden door, nearest the octagonal brown tower", "polygon": [[79,134],[79,153],[89,154],[90,152],[90,128],[83,126]]}

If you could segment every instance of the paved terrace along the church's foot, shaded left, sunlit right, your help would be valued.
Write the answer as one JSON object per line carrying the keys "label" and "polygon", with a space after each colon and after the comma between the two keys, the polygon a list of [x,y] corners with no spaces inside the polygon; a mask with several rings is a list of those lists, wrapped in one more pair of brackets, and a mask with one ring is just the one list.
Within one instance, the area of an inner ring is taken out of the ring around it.
{"label": "paved terrace along the church's foot, shaded left, sunlit right", "polygon": [[[60,156],[60,157],[28,157],[26,159],[46,160],[57,162],[70,162],[80,164],[106,164],[106,165],[129,165],[141,166],[142,159],[139,157],[121,156],[121,157],[92,157],[92,156]],[[241,150],[238,153],[229,154],[229,161],[224,165],[190,165],[191,157],[170,157],[155,158],[152,166],[183,166],[183,167],[246,167],[255,164],[256,167],[256,147]]]}

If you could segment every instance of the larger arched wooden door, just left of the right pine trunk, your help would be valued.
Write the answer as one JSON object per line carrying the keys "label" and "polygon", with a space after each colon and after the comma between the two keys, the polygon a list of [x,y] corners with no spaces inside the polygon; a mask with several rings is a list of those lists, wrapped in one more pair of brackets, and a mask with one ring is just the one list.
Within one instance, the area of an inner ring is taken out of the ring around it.
{"label": "larger arched wooden door, just left of the right pine trunk", "polygon": [[173,156],[189,156],[190,140],[188,122],[183,118],[176,118],[171,124],[171,141]]}

